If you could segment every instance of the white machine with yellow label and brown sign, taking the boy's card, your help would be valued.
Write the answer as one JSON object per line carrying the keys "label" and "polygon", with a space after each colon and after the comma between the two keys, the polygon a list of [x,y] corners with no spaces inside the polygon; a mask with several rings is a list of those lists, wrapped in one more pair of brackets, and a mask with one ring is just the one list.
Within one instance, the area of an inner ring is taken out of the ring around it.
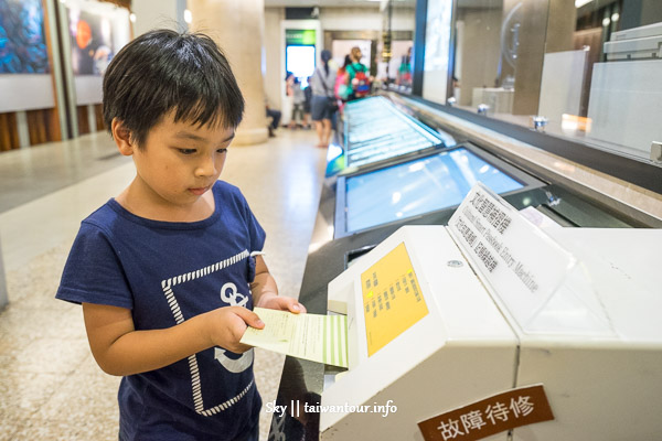
{"label": "white machine with yellow label and brown sign, taking the boy's card", "polygon": [[[661,255],[662,230],[543,230],[477,184],[447,227],[403,227],[329,284],[349,369],[321,439],[659,439]],[[533,385],[553,419],[485,405]]]}

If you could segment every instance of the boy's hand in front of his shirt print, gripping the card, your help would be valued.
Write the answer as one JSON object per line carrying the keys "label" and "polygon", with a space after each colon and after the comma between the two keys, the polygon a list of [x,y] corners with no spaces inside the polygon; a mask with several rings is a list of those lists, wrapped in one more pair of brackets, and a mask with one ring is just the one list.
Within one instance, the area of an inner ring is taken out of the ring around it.
{"label": "boy's hand in front of his shirt print, gripping the card", "polygon": [[221,346],[236,354],[242,354],[253,346],[239,343],[248,326],[261,330],[265,323],[259,316],[243,306],[224,306],[206,314],[206,330],[212,346]]}

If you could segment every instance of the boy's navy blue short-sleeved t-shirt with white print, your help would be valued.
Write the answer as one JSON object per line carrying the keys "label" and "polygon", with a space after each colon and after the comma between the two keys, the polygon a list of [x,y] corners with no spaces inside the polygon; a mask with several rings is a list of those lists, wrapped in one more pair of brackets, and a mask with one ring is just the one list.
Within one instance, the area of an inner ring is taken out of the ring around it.
{"label": "boy's navy blue short-sleeved t-shirt with white print", "polygon": [[[238,189],[218,181],[213,194],[214,214],[193,223],[146,219],[108,201],[83,220],[56,298],[129,309],[136,330],[221,306],[252,310],[252,252],[263,249],[265,232]],[[124,377],[118,399],[126,441],[241,440],[261,406],[253,349],[239,356],[221,347]]]}

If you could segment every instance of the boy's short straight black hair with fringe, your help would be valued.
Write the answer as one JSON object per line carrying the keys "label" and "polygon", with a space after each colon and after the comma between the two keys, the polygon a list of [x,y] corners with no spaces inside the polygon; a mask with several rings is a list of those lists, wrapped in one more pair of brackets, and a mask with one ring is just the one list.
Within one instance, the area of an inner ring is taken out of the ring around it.
{"label": "boy's short straight black hair with fringe", "polygon": [[118,118],[142,148],[149,130],[174,121],[237,127],[244,97],[227,58],[204,34],[147,32],[117,53],[104,76],[104,122]]}

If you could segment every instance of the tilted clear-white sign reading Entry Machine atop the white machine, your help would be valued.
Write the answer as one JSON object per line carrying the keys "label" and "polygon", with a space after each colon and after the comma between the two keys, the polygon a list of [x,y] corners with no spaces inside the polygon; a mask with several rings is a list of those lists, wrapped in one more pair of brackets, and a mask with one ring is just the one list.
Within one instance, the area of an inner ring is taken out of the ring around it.
{"label": "tilted clear-white sign reading Entry Machine atop the white machine", "polygon": [[572,254],[480,182],[448,227],[474,270],[522,329],[576,263]]}

